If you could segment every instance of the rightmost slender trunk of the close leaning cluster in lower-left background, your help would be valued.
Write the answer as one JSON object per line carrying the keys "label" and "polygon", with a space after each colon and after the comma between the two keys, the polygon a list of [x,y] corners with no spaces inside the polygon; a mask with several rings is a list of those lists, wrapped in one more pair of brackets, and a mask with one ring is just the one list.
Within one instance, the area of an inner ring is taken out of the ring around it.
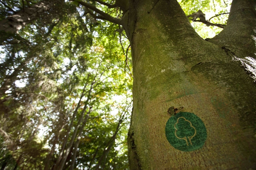
{"label": "rightmost slender trunk of the close leaning cluster in lower-left background", "polygon": [[83,128],[85,127],[85,124],[89,118],[89,114],[91,113],[91,111],[89,111],[86,115],[85,115],[85,119],[83,120],[83,124],[82,126],[80,127],[80,130],[79,130],[79,134],[78,134],[78,137],[77,137],[77,140],[76,140],[76,143],[75,143],[75,146],[74,146],[74,150],[73,150],[73,155],[72,155],[72,158],[71,158],[71,165],[69,167],[69,170],[73,170],[74,169],[74,165],[75,165],[75,162],[76,162],[76,152],[77,152],[77,148],[79,146],[79,143],[80,143],[80,140],[82,138],[82,134],[83,134]]}

